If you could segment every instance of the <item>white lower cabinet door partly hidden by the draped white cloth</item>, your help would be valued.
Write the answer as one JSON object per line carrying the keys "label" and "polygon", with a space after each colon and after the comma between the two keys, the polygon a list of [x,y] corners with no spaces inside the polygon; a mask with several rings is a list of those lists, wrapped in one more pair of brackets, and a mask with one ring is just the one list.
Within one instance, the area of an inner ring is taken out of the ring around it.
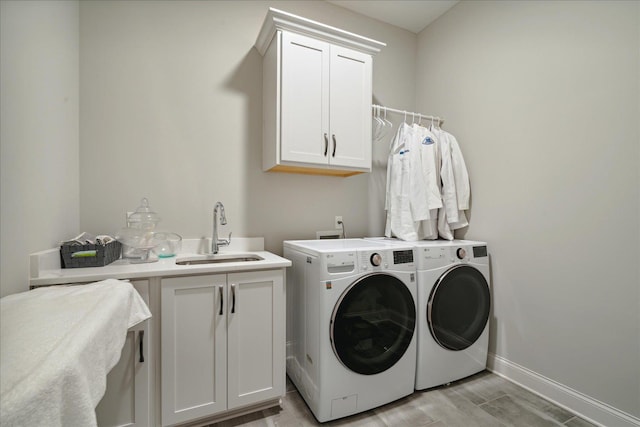
{"label": "white lower cabinet door partly hidden by the draped white cloth", "polygon": [[[149,281],[132,281],[149,305]],[[150,423],[149,363],[151,360],[150,323],[145,320],[127,332],[118,364],[107,375],[107,390],[96,407],[100,427],[147,427]]]}

